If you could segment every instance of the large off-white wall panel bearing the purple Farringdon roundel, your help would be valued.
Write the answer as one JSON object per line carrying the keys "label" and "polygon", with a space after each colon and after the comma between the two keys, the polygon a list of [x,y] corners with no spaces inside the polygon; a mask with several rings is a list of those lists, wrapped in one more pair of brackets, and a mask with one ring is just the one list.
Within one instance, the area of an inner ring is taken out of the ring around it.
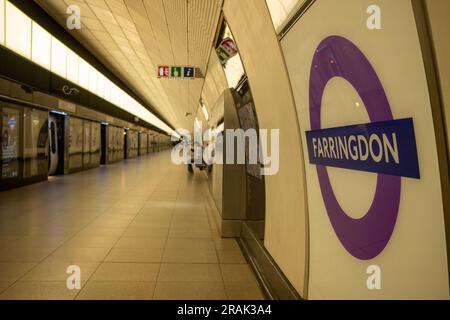
{"label": "large off-white wall panel bearing the purple Farringdon roundel", "polygon": [[[372,4],[316,1],[281,40],[306,157],[308,299],[448,299],[439,152],[414,10],[410,0],[384,1],[390,24],[373,31],[360,10]],[[372,265],[382,290],[368,290]]]}

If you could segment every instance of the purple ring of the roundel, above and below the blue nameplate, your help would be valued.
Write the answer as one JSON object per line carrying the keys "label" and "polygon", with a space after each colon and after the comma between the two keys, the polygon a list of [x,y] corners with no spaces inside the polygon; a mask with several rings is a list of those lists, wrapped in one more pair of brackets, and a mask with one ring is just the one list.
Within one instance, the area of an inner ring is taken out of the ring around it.
{"label": "purple ring of the roundel, above and below the blue nameplate", "polygon": [[[365,55],[351,41],[340,36],[330,36],[316,49],[311,66],[311,130],[322,129],[322,97],[327,83],[334,77],[344,78],[356,89],[371,122],[393,120],[383,86]],[[317,175],[331,224],[345,249],[361,260],[378,256],[388,244],[397,221],[401,177],[378,174],[376,192],[369,211],[363,218],[353,219],[336,199],[327,167],[317,165]]]}

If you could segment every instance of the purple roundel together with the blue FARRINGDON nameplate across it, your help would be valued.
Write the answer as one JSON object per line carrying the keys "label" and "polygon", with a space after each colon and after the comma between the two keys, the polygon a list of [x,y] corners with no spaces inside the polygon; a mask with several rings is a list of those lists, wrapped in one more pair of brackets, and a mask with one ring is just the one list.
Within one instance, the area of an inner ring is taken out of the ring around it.
{"label": "purple roundel together with the blue FARRINGDON nameplate across it", "polygon": [[[313,129],[306,132],[309,157],[317,165],[322,197],[339,240],[355,258],[370,260],[384,250],[392,236],[401,196],[400,177],[420,177],[413,122],[393,119],[377,73],[351,41],[330,36],[318,48],[309,81]],[[323,95],[335,77],[347,80],[356,89],[372,123],[321,130]],[[382,191],[367,213],[366,223],[354,223],[339,207],[332,196],[327,166],[385,174],[378,180]],[[384,219],[380,218],[383,215]]]}

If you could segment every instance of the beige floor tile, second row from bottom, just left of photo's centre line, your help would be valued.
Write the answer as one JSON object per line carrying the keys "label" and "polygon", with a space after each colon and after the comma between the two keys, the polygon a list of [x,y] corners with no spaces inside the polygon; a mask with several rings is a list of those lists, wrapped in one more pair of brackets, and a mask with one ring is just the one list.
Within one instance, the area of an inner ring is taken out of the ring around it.
{"label": "beige floor tile, second row from bottom, just left of photo's centre line", "polygon": [[161,265],[158,281],[163,282],[220,282],[218,264],[166,264]]}

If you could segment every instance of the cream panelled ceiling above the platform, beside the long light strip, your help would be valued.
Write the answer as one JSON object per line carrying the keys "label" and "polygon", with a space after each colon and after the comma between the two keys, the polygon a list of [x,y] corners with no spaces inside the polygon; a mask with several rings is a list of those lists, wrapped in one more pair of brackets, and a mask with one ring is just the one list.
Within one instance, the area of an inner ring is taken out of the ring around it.
{"label": "cream panelled ceiling above the platform, beside the long light strip", "polygon": [[175,127],[191,127],[185,112],[197,111],[203,86],[222,89],[214,81],[156,75],[161,64],[191,64],[206,73],[220,14],[216,0],[35,1],[62,26],[68,4],[79,5],[82,30],[73,35]]}

